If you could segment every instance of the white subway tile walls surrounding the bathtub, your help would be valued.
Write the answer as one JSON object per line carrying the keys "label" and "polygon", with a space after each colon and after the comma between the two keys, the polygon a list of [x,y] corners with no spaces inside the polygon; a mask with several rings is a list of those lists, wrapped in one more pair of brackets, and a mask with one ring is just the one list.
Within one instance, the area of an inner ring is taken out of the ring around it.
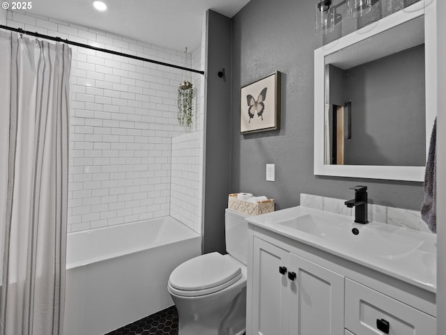
{"label": "white subway tile walls surrounding the bathtub", "polygon": [[[185,65],[183,50],[31,13],[8,10],[6,19],[8,26]],[[201,54],[194,52],[197,68]],[[72,47],[68,232],[163,217],[171,207],[176,219],[201,231],[203,76],[192,76],[199,112],[188,130],[178,125],[176,103],[185,75]]]}

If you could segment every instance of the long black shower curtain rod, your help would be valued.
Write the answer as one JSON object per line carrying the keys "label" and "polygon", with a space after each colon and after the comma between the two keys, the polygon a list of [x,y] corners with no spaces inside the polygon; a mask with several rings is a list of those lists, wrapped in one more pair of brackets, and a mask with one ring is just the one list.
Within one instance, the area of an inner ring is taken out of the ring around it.
{"label": "long black shower curtain rod", "polygon": [[123,56],[123,57],[127,57],[127,58],[130,58],[130,59],[137,59],[138,61],[145,61],[145,62],[148,62],[148,63],[155,63],[157,65],[168,66],[169,68],[176,68],[176,69],[190,71],[190,72],[195,72],[195,73],[199,73],[200,75],[204,75],[204,71],[201,71],[201,70],[194,70],[192,68],[185,68],[184,66],[164,63],[162,61],[155,61],[153,59],[146,59],[144,57],[134,56],[132,54],[124,54],[123,52],[116,52],[116,51],[109,50],[109,49],[103,49],[102,47],[93,47],[93,45],[86,45],[84,43],[74,42],[72,40],[64,40],[63,38],[60,38],[60,37],[43,35],[43,34],[37,33],[37,32],[34,33],[33,31],[26,31],[26,30],[21,29],[21,28],[13,28],[11,26],[3,26],[2,24],[0,24],[0,28],[1,29],[10,30],[10,31],[15,31],[17,33],[21,33],[21,34],[25,34],[25,35],[34,36],[36,38],[45,38],[47,40],[54,40],[56,42],[63,42],[63,43],[69,44],[69,45],[75,45],[76,47],[85,47],[87,49],[93,49],[93,50],[96,50],[96,51],[105,52],[107,54],[114,54],[116,56]]}

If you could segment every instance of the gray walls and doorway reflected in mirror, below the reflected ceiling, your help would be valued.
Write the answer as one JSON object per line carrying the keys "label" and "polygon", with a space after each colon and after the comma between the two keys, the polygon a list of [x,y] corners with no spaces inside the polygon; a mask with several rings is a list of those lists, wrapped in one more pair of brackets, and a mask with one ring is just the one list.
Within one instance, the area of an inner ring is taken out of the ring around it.
{"label": "gray walls and doorway reflected in mirror, below the reflected ceiling", "polygon": [[325,71],[331,164],[425,164],[424,44]]}

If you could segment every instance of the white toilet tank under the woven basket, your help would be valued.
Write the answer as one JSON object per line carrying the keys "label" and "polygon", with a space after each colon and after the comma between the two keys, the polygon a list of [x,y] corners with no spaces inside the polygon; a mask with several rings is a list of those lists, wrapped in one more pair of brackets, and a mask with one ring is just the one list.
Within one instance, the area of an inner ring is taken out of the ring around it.
{"label": "white toilet tank under the woven basket", "polygon": [[224,213],[224,235],[228,254],[247,265],[248,224],[244,220],[245,217],[248,217],[248,215],[226,208]]}

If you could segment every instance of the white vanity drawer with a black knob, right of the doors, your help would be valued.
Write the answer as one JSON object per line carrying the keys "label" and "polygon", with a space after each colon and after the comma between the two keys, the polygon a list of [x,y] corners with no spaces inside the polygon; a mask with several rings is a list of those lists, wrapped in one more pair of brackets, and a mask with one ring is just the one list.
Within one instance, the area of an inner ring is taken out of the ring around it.
{"label": "white vanity drawer with a black knob, right of the doors", "polygon": [[345,327],[354,334],[436,334],[436,318],[348,278],[345,295]]}

